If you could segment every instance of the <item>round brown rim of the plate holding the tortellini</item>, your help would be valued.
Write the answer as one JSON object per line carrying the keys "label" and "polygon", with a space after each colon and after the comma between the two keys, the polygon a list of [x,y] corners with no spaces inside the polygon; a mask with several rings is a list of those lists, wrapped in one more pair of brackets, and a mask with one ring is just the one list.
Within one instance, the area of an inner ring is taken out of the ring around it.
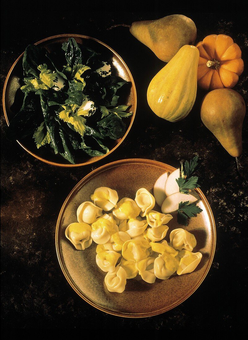
{"label": "round brown rim of the plate holding the tortellini", "polygon": [[59,234],[59,225],[60,225],[60,222],[61,222],[61,217],[62,217],[62,214],[63,214],[63,210],[64,208],[66,207],[66,204],[68,202],[68,200],[70,199],[71,195],[77,190],[77,188],[81,185],[82,182],[85,182],[87,181],[87,179],[91,176],[95,176],[97,175],[97,173],[100,173],[102,172],[103,170],[106,170],[105,168],[108,168],[108,169],[111,169],[115,166],[120,166],[122,164],[135,164],[135,163],[143,163],[143,164],[149,164],[149,165],[157,165],[158,167],[167,167],[167,168],[170,168],[172,171],[173,170],[176,170],[176,168],[166,164],[166,163],[162,163],[162,162],[159,162],[157,160],[153,160],[153,159],[146,159],[146,158],[128,158],[128,159],[120,159],[120,160],[116,160],[114,162],[111,162],[111,163],[107,163],[103,166],[100,166],[99,168],[97,169],[94,169],[93,171],[91,171],[90,173],[88,173],[86,176],[84,176],[74,187],[73,189],[71,190],[71,192],[67,195],[61,209],[60,209],[60,212],[59,212],[59,215],[58,215],[58,220],[57,220],[57,224],[56,224],[56,232],[55,232],[55,245],[56,245],[56,253],[57,253],[57,257],[58,257],[58,261],[59,261],[59,264],[60,264],[60,267],[61,267],[61,270],[67,280],[67,282],[69,283],[69,285],[73,288],[73,290],[86,302],[88,302],[91,306],[97,308],[98,310],[101,310],[103,312],[106,312],[108,314],[112,314],[112,315],[115,315],[115,316],[119,316],[119,317],[125,317],[125,318],[146,318],[146,317],[151,317],[151,316],[156,316],[158,314],[162,314],[162,313],[165,313],[166,311],[169,311],[175,307],[177,307],[178,305],[180,305],[181,303],[183,303],[185,300],[187,300],[199,287],[200,285],[202,284],[203,280],[205,279],[208,271],[210,270],[211,268],[211,265],[213,263],[213,258],[214,258],[214,255],[215,255],[215,248],[216,248],[216,225],[215,225],[215,220],[214,220],[214,216],[213,216],[213,212],[212,212],[212,209],[210,207],[210,204],[208,203],[205,195],[203,194],[203,192],[199,189],[199,188],[196,188],[195,190],[197,191],[197,193],[199,194],[199,196],[201,197],[201,200],[204,201],[204,204],[206,205],[208,211],[209,211],[209,215],[210,215],[210,219],[211,219],[211,223],[213,224],[213,236],[214,236],[214,244],[213,244],[213,251],[212,253],[210,254],[210,261],[209,261],[209,264],[208,264],[208,267],[207,267],[207,270],[205,271],[203,277],[201,278],[199,284],[195,287],[195,289],[193,289],[190,294],[188,294],[182,301],[178,302],[178,303],[175,303],[172,307],[169,307],[169,308],[164,308],[162,310],[158,310],[158,311],[155,311],[155,312],[149,312],[149,313],[137,313],[137,314],[130,314],[130,313],[118,313],[118,312],[113,312],[109,309],[106,309],[106,308],[102,308],[102,307],[99,307],[97,306],[94,302],[92,302],[90,299],[88,299],[86,296],[84,296],[78,289],[77,287],[75,287],[73,285],[73,281],[68,277],[66,271],[64,270],[64,267],[63,267],[63,260],[62,260],[62,255],[60,254],[60,247],[59,247],[59,240],[58,240],[58,234]]}

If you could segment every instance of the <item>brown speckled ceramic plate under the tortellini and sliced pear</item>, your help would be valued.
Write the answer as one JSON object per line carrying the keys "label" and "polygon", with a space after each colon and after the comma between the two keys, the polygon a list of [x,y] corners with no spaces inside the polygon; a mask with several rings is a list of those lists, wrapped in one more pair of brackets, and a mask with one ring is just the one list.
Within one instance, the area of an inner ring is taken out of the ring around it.
{"label": "brown speckled ceramic plate under the tortellini and sliced pear", "polygon": [[[77,222],[77,207],[84,201],[90,201],[90,195],[97,187],[110,187],[117,190],[119,198],[134,199],[136,191],[142,187],[153,193],[153,185],[158,177],[173,170],[175,168],[154,160],[119,160],[92,171],[74,187],[65,200],[56,228],[59,263],[72,288],[92,306],[122,317],[154,316],[185,301],[207,275],[214,256],[216,232],[211,208],[199,189],[193,194],[199,198],[198,205],[203,211],[191,218],[185,228],[196,237],[197,245],[193,252],[200,251],[203,256],[196,270],[190,274],[175,275],[167,280],[156,279],[154,284],[129,279],[123,293],[111,293],[104,284],[106,273],[96,265],[96,244],[92,242],[88,249],[78,251],[65,237],[68,224]],[[155,206],[154,210],[157,209],[159,207]],[[167,241],[173,229],[184,228],[177,224],[176,214],[172,215],[165,238]]]}

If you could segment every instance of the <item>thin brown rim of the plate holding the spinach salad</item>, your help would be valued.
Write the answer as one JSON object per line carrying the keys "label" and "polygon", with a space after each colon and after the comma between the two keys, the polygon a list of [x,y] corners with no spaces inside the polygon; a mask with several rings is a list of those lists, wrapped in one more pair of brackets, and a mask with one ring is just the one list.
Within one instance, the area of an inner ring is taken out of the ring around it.
{"label": "thin brown rim of the plate holding the spinach salad", "polygon": [[[62,167],[62,168],[71,168],[71,167],[80,167],[80,166],[86,166],[86,165],[90,165],[92,163],[96,163],[100,160],[102,160],[103,158],[107,157],[109,154],[111,154],[115,149],[117,149],[121,143],[124,141],[124,139],[126,138],[128,132],[130,131],[132,125],[133,125],[133,122],[134,122],[134,118],[135,118],[135,114],[136,114],[136,110],[137,110],[137,91],[136,91],[136,86],[135,86],[135,82],[134,82],[134,79],[133,79],[133,76],[129,70],[129,68],[127,67],[126,63],[124,62],[124,60],[122,59],[122,57],[117,53],[115,52],[110,46],[108,46],[107,44],[103,43],[103,41],[101,40],[98,40],[96,38],[93,38],[93,37],[90,37],[90,36],[87,36],[87,35],[82,35],[82,34],[58,34],[58,35],[52,35],[50,37],[47,37],[47,38],[44,38],[42,40],[39,40],[37,41],[36,43],[34,43],[34,45],[38,45],[38,44],[41,44],[41,43],[44,43],[45,41],[48,41],[48,40],[51,40],[51,39],[55,39],[55,38],[61,38],[61,37],[79,37],[79,38],[84,38],[84,39],[91,39],[91,40],[94,40],[96,41],[97,43],[99,43],[100,45],[103,45],[105,46],[106,48],[108,48],[122,63],[123,65],[125,66],[126,68],[126,71],[130,77],[130,80],[131,80],[131,84],[132,84],[132,87],[134,89],[134,110],[133,110],[133,115],[132,115],[132,119],[130,121],[130,124],[127,128],[127,131],[126,133],[124,134],[124,136],[121,138],[120,142],[115,145],[113,147],[113,149],[111,149],[108,153],[106,153],[105,155],[103,156],[99,156],[100,158],[98,159],[94,159],[95,157],[91,157],[91,159],[87,162],[87,163],[78,163],[78,164],[63,164],[63,163],[56,163],[56,162],[52,162],[50,160],[47,160],[45,158],[42,158],[38,155],[36,155],[35,153],[33,153],[32,151],[30,151],[25,145],[23,145],[19,140],[16,140],[17,143],[26,151],[28,152],[30,155],[32,155],[33,157],[35,157],[36,159],[44,162],[44,163],[47,163],[49,165],[53,165],[53,166],[57,166],[57,167]],[[5,121],[7,123],[7,126],[10,125],[9,123],[9,119],[7,117],[7,112],[6,112],[6,106],[5,106],[5,94],[6,94],[6,88],[7,88],[7,85],[8,85],[8,81],[10,79],[10,76],[12,74],[12,71],[15,67],[15,65],[18,63],[18,61],[20,60],[20,58],[24,55],[24,52],[22,52],[19,57],[15,60],[15,62],[13,63],[13,65],[11,66],[8,74],[7,74],[7,77],[5,79],[5,82],[4,82],[4,86],[3,86],[3,96],[2,96],[2,103],[3,103],[3,113],[4,113],[4,117],[5,117]]]}

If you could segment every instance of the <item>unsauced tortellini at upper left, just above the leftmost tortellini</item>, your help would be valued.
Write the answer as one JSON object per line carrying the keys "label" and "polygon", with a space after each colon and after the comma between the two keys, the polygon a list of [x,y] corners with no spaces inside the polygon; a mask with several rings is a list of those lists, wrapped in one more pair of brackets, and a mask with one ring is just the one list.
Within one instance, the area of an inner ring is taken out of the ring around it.
{"label": "unsauced tortellini at upper left, just above the leftmost tortellini", "polygon": [[83,202],[77,208],[78,222],[91,224],[96,221],[97,217],[103,215],[103,209],[97,207],[90,201]]}

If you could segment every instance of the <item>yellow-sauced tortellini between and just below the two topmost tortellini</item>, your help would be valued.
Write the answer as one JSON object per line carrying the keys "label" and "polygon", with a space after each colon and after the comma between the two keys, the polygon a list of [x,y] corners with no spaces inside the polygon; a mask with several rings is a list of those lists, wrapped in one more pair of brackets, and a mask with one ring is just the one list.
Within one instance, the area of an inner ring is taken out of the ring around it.
{"label": "yellow-sauced tortellini between and just below the two topmost tortellini", "polygon": [[124,197],[118,202],[117,207],[113,210],[113,215],[120,220],[126,220],[136,218],[140,211],[141,209],[134,200]]}

